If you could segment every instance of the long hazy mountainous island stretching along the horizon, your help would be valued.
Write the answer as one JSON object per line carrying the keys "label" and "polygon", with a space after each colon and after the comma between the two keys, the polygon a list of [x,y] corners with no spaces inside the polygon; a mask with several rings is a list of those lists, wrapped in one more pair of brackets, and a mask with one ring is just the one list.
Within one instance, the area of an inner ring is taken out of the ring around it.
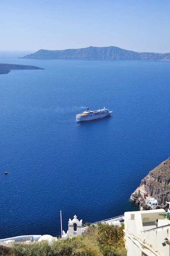
{"label": "long hazy mountainous island stretching along the horizon", "polygon": [[20,58],[67,59],[67,60],[110,60],[110,61],[170,61],[170,53],[133,52],[115,46],[87,47],[66,50],[39,50]]}

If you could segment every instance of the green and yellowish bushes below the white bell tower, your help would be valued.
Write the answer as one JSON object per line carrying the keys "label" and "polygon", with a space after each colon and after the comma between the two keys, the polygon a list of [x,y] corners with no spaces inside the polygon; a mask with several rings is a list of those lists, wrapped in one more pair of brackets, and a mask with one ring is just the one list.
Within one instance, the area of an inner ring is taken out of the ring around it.
{"label": "green and yellowish bushes below the white bell tower", "polygon": [[68,238],[49,244],[46,241],[17,243],[11,247],[8,256],[125,256],[122,227],[98,224],[89,226],[83,236]]}

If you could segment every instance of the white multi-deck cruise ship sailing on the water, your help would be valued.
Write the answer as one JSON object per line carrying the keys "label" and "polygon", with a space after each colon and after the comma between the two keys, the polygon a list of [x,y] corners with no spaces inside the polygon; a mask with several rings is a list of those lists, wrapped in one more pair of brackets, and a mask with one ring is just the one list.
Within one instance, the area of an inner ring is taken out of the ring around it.
{"label": "white multi-deck cruise ship sailing on the water", "polygon": [[76,121],[89,121],[93,119],[102,119],[103,117],[109,116],[113,111],[109,111],[107,108],[102,108],[94,111],[90,111],[89,108],[87,108],[86,111],[84,111],[81,114],[76,115]]}

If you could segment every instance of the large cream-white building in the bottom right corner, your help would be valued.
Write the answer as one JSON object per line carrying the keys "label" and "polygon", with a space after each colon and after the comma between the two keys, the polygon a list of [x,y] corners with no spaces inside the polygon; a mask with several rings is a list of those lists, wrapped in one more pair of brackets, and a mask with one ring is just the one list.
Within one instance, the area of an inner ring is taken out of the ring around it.
{"label": "large cream-white building in the bottom right corner", "polygon": [[170,220],[163,209],[125,212],[127,256],[170,256]]}

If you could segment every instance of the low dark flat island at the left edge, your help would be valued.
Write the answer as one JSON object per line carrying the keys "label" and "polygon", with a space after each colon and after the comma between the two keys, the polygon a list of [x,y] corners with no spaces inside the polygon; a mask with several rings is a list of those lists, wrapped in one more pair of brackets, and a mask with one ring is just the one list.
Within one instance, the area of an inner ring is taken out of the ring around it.
{"label": "low dark flat island at the left edge", "polygon": [[16,65],[16,64],[1,64],[0,74],[8,74],[10,70],[43,70],[44,68],[29,66],[29,65]]}

